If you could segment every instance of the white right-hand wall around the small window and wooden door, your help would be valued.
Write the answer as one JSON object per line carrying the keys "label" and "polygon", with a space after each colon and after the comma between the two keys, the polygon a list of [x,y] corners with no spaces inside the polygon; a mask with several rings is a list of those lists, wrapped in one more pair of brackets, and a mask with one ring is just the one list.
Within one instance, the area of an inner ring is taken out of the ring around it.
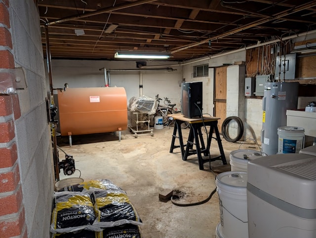
{"label": "white right-hand wall around the small window and wooden door", "polygon": [[[223,64],[234,64],[238,61],[245,61],[246,51],[223,55],[197,63],[187,64],[183,67],[183,78],[186,81],[203,80],[203,111],[204,108],[213,112],[214,108],[214,71],[209,69],[208,77],[193,78],[193,67],[207,64],[209,67],[218,67]],[[206,78],[206,79],[204,79]],[[206,91],[204,91],[206,90]],[[205,101],[204,101],[205,95]],[[244,122],[245,138],[254,138],[260,141],[262,128],[262,100],[245,99],[244,97],[244,69],[239,65],[231,65],[227,70],[227,117],[238,116]],[[231,133],[234,133],[232,130]],[[232,135],[234,137],[235,135]]]}

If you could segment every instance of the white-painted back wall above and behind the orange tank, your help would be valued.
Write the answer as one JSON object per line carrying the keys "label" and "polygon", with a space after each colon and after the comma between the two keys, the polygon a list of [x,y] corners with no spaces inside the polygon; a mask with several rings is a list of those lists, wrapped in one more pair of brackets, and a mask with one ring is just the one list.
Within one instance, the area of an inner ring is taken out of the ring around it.
{"label": "white-painted back wall above and behind the orange tank", "polygon": [[[135,69],[135,61],[95,61],[95,60],[52,60],[53,87],[63,88],[65,83],[69,87],[102,87],[104,86],[104,71],[106,69],[121,69],[111,71],[111,86],[124,87],[127,102],[131,97],[146,95],[155,98],[168,97],[176,107],[180,107],[180,86],[182,72],[179,67],[173,72],[162,71],[124,71]],[[142,76],[140,76],[142,74]],[[142,77],[142,95],[140,90],[140,77]],[[46,84],[48,85],[48,81]],[[56,91],[57,94],[57,91]],[[162,102],[163,104],[163,102]]]}

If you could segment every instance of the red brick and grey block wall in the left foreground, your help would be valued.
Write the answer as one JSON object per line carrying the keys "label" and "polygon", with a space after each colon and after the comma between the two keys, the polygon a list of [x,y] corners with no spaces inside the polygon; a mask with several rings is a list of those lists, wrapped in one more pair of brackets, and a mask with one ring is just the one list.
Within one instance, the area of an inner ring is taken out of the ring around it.
{"label": "red brick and grey block wall in the left foreground", "polygon": [[27,85],[0,95],[1,238],[49,238],[54,171],[40,37],[35,1],[0,0],[0,68],[22,68]]}

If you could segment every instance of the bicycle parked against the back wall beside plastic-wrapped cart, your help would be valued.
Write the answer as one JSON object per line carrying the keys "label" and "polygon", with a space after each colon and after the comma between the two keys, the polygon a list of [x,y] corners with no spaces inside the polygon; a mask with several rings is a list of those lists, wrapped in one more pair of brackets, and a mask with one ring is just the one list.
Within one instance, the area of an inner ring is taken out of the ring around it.
{"label": "bicycle parked against the back wall beside plastic-wrapped cart", "polygon": [[[172,104],[169,98],[164,97],[163,103],[166,107],[160,105],[160,101],[162,99],[159,98],[159,94],[156,95],[156,101],[158,102],[157,109],[156,109],[156,116],[162,117],[162,124],[164,126],[173,125],[173,119],[170,118],[170,114],[181,113],[177,108],[175,108],[176,104]],[[181,128],[185,129],[188,128],[190,124],[188,122],[181,123]]]}

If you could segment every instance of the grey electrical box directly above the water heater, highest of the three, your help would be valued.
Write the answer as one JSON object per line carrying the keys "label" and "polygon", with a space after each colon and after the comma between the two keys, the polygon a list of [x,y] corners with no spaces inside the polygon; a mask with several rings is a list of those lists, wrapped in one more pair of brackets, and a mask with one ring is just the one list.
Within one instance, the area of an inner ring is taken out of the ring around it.
{"label": "grey electrical box directly above the water heater, highest of the three", "polygon": [[296,53],[276,56],[276,81],[295,79]]}

